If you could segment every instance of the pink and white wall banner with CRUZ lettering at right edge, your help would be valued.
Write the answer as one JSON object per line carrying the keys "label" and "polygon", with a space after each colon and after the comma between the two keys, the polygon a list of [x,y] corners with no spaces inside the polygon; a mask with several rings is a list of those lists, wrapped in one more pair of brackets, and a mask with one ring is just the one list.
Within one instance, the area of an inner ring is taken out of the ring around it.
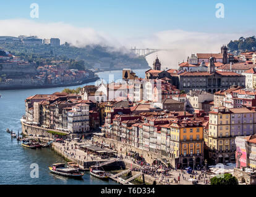
{"label": "pink and white wall banner with CRUZ lettering at right edge", "polygon": [[247,166],[245,143],[245,139],[242,137],[236,137],[236,167],[239,169]]}

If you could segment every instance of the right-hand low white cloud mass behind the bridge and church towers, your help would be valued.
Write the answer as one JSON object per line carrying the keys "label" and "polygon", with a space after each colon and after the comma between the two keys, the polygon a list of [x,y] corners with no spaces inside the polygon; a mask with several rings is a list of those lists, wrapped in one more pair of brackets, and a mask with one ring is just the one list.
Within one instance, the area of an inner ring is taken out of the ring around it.
{"label": "right-hand low white cloud mass behind the bridge and church towers", "polygon": [[[161,50],[148,55],[151,66],[156,55],[160,58],[162,68],[178,68],[178,62],[187,61],[187,57],[197,53],[219,53],[223,44],[241,36],[251,36],[250,33],[202,33],[197,31],[168,30],[161,31],[148,38],[137,39],[132,44],[137,47]],[[137,43],[137,45],[136,45]]]}

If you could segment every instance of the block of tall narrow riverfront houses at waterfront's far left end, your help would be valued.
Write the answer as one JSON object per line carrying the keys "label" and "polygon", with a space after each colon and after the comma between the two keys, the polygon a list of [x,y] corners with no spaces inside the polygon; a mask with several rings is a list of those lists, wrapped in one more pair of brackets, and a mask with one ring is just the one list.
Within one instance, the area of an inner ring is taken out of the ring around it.
{"label": "block of tall narrow riverfront houses at waterfront's far left end", "polygon": [[75,138],[88,135],[90,125],[91,129],[98,127],[98,113],[95,115],[95,111],[92,111],[89,118],[90,108],[95,108],[95,103],[82,100],[78,94],[55,92],[51,95],[34,95],[25,100],[23,121],[45,129],[67,132]]}

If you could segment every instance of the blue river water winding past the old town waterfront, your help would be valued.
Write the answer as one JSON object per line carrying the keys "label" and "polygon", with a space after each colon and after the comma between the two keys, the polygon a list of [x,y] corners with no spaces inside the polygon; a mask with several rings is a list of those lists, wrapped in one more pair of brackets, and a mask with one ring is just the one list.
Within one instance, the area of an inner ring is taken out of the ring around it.
{"label": "blue river water winding past the old town waterfront", "polygon": [[[144,78],[145,70],[134,70],[137,76]],[[103,81],[117,81],[122,79],[122,71],[105,71],[97,73]],[[100,80],[101,81],[101,80]],[[88,84],[95,84],[90,82]],[[6,128],[14,132],[21,132],[20,118],[25,113],[25,98],[35,94],[52,94],[60,92],[64,88],[74,89],[76,87],[53,87],[46,89],[25,90],[0,90],[0,184],[117,184],[111,180],[103,181],[90,174],[85,173],[83,180],[68,179],[49,173],[48,166],[52,163],[62,162],[62,158],[51,150],[30,150],[23,148],[16,139],[11,140]],[[30,177],[30,165],[36,163],[39,167],[39,177]]]}

